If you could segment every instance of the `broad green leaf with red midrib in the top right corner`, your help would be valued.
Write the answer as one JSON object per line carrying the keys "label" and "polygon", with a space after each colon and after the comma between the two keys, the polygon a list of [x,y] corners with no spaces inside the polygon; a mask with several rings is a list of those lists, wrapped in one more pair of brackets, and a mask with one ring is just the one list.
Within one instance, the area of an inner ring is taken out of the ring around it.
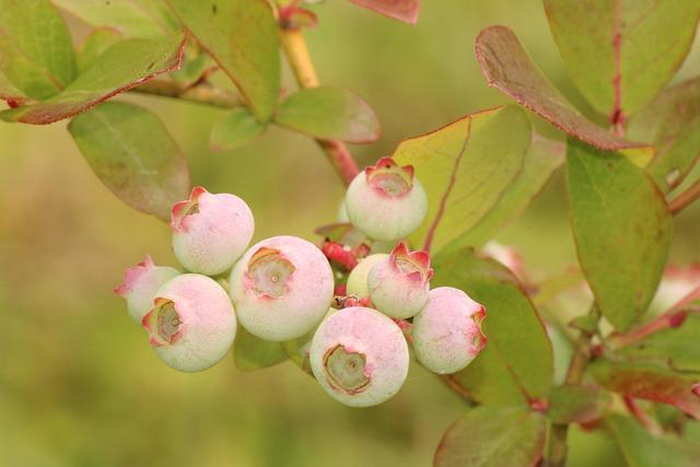
{"label": "broad green leaf with red midrib in the top right corner", "polygon": [[697,0],[545,0],[559,51],[583,95],[605,115],[631,115],[682,63]]}

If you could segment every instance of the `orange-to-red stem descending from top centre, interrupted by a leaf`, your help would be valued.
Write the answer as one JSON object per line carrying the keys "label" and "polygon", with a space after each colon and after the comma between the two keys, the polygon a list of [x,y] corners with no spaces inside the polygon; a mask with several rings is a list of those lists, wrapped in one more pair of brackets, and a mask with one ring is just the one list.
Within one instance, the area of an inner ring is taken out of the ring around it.
{"label": "orange-to-red stem descending from top centre, interrupted by a leaf", "polygon": [[[308,52],[304,33],[300,28],[285,27],[280,24],[280,40],[299,87],[317,87],[319,85],[318,75]],[[346,144],[342,141],[322,139],[317,139],[316,142],[324,150],[342,182],[350,185],[359,170]]]}

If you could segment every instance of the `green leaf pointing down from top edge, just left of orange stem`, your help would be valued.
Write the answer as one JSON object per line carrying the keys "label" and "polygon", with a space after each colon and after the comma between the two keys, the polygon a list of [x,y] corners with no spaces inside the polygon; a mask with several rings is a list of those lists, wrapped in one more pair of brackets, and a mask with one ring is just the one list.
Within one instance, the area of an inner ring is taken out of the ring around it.
{"label": "green leaf pointing down from top edge, just left of orange stem", "polygon": [[167,0],[238,87],[260,121],[280,92],[277,21],[266,0]]}

